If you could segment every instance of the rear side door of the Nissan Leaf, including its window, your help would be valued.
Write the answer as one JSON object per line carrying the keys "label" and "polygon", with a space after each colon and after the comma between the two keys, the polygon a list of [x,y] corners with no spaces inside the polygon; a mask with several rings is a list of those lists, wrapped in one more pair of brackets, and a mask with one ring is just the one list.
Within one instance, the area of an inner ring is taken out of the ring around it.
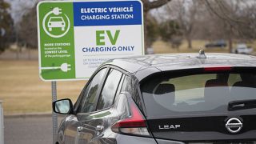
{"label": "rear side door of the Nissan Leaf, including its window", "polygon": [[[94,112],[79,112],[78,115],[78,131],[75,143],[110,143],[102,140],[102,132],[106,130],[112,123],[114,109],[112,108],[115,95],[118,91],[119,83],[122,79],[122,73],[118,70],[110,69],[106,76],[106,81],[100,90],[97,107]],[[86,107],[86,103],[82,107]]]}

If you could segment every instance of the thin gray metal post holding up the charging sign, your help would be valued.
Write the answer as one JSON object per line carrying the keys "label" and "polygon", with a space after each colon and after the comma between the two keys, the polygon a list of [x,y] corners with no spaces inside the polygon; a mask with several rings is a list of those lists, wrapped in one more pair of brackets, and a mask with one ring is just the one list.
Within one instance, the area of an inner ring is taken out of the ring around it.
{"label": "thin gray metal post holding up the charging sign", "polygon": [[[51,93],[52,93],[52,101],[57,101],[57,82],[51,82]],[[58,115],[53,111],[53,144],[55,142],[55,136],[58,130]]]}

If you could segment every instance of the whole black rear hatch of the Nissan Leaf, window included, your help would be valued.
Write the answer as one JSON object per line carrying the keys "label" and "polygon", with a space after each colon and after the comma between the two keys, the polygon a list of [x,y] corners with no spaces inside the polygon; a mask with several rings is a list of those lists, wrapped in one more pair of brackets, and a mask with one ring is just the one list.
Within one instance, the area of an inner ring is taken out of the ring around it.
{"label": "whole black rear hatch of the Nissan Leaf, window included", "polygon": [[142,81],[147,125],[158,143],[256,143],[256,70],[189,71]]}

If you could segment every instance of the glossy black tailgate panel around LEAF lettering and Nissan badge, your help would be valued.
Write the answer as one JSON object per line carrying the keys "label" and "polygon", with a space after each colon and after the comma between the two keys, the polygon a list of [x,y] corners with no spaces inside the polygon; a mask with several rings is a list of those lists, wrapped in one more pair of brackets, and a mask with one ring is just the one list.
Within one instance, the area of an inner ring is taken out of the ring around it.
{"label": "glossy black tailgate panel around LEAF lettering and Nissan badge", "polygon": [[[231,115],[231,114],[230,114]],[[243,140],[255,138],[256,120],[255,114],[248,116],[242,114],[232,114],[235,117],[243,120],[243,129],[239,134],[230,134],[226,130],[226,119],[233,118],[232,116],[207,116],[202,115],[193,117],[191,115],[182,118],[157,118],[150,119],[150,130],[155,138],[171,139],[179,142],[193,142],[193,141],[225,141],[225,140]],[[192,117],[192,118],[191,118]],[[179,125],[178,128],[171,127],[170,125]],[[159,130],[159,126],[169,125],[169,129]]]}

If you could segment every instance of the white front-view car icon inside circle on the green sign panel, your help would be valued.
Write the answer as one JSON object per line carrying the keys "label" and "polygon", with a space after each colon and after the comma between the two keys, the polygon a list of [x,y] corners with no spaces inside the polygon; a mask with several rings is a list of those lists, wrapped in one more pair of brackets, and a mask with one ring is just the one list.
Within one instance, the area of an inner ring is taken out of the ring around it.
{"label": "white front-view car icon inside circle on the green sign panel", "polygon": [[64,31],[66,23],[62,17],[50,17],[47,25],[48,25],[49,31],[52,31],[53,28],[62,28],[62,31]]}

